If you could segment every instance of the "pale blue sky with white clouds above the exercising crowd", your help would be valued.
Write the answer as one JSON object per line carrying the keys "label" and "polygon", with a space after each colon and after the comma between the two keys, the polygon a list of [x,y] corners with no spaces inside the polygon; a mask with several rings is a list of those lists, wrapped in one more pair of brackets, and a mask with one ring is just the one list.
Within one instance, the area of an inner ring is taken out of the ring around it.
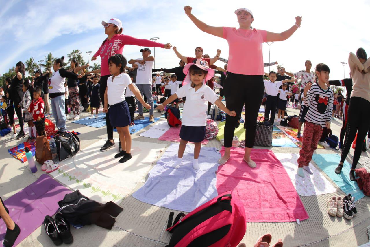
{"label": "pale blue sky with white clouds above the exercising crowd", "polygon": [[[193,7],[192,13],[211,26],[238,27],[235,9],[246,7],[253,11],[252,26],[270,32],[282,32],[302,16],[301,27],[288,40],[270,46],[270,60],[285,65],[287,71],[304,69],[305,60],[326,63],[331,79],[343,78],[343,66],[349,52],[363,47],[370,56],[369,19],[370,1],[38,1],[1,0],[0,9],[0,74],[18,61],[34,57],[43,60],[48,52],[55,57],[65,56],[72,49],[95,51],[106,38],[101,20],[117,17],[122,21],[124,34],[176,46],[185,56],[194,56],[196,46],[213,57],[221,49],[221,57],[228,58],[225,39],[203,33],[184,13],[184,5]],[[141,56],[140,47],[127,45],[123,55],[129,59]],[[92,53],[93,54],[93,53]],[[152,49],[152,55],[154,50]],[[155,49],[156,67],[178,66],[173,50]],[[91,59],[91,56],[90,56]],[[263,45],[264,62],[269,62],[269,47]],[[100,59],[97,59],[100,62]],[[90,63],[91,64],[91,63]],[[223,63],[216,62],[217,66]],[[268,67],[265,72],[268,72]],[[276,66],[271,67],[276,70]],[[344,67],[346,77],[348,65]]]}

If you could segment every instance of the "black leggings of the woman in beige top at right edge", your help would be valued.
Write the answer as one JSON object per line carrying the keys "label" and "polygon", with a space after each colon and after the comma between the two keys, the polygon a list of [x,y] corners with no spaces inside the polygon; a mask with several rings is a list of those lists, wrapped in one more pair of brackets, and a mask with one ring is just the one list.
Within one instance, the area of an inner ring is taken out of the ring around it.
{"label": "black leggings of the woman in beige top at right edge", "polygon": [[356,145],[356,148],[354,149],[352,169],[356,168],[357,162],[359,162],[362,152],[362,143],[366,137],[367,131],[369,130],[369,109],[369,101],[360,97],[351,97],[348,106],[346,139],[344,140],[340,162],[344,162],[346,159],[357,133],[356,143],[359,145]]}

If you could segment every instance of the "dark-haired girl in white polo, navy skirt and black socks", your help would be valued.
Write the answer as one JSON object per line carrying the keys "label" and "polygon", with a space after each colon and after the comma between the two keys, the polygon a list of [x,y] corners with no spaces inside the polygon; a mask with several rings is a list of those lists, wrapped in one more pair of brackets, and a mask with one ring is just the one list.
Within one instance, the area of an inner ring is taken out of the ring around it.
{"label": "dark-haired girl in white polo, navy skirt and black socks", "polygon": [[[142,105],[150,109],[141,96],[140,91],[132,84],[130,77],[125,73],[127,60],[122,54],[116,54],[108,59],[110,76],[107,80],[107,89],[104,93],[104,109],[103,112],[109,111],[109,120],[112,126],[115,126],[120,135],[122,151],[114,157],[122,157],[118,162],[124,163],[132,158],[131,156],[131,134],[128,125],[131,123],[131,115],[128,109],[128,104],[125,99],[125,89],[128,87],[142,103]],[[108,104],[110,105],[108,109]]]}

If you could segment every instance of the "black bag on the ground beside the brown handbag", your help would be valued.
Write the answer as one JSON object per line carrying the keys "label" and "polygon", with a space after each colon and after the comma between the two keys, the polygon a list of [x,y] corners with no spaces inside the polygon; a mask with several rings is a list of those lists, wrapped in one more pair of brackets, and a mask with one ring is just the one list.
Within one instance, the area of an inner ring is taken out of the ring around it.
{"label": "black bag on the ground beside the brown handbag", "polygon": [[80,151],[80,139],[74,133],[66,133],[64,136],[55,136],[59,161],[73,157]]}

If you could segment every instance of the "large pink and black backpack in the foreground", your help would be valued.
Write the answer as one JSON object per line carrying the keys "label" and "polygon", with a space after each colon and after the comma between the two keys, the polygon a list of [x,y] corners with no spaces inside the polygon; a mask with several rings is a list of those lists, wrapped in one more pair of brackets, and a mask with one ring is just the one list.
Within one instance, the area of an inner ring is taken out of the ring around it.
{"label": "large pink and black backpack in the foreground", "polygon": [[179,213],[172,225],[173,217],[171,212],[166,231],[172,236],[167,247],[235,247],[247,228],[244,206],[232,191],[218,195],[187,215]]}

